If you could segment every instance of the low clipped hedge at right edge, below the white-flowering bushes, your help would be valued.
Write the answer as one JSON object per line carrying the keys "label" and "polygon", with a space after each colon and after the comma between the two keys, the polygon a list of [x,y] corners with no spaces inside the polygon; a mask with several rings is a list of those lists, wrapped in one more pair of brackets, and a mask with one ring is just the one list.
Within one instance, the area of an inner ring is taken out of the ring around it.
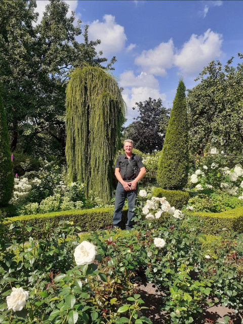
{"label": "low clipped hedge at right edge, below the white-flowering bushes", "polygon": [[204,221],[201,229],[203,233],[215,235],[222,232],[222,228],[242,233],[243,232],[243,207],[231,209],[222,213],[193,213]]}

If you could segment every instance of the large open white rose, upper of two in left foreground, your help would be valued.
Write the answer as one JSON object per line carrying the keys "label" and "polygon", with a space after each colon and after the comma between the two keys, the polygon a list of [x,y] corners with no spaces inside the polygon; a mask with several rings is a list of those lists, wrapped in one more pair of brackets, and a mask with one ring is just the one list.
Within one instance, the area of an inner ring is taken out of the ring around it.
{"label": "large open white rose, upper of two in left foreground", "polygon": [[88,241],[83,241],[74,251],[74,259],[77,265],[91,264],[95,260],[96,246]]}

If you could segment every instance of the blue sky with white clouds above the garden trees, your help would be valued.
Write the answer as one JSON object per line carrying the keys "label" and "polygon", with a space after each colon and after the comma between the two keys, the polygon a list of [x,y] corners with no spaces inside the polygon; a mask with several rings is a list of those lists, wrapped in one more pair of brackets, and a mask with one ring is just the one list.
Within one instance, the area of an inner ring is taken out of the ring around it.
{"label": "blue sky with white clouds above the garden trees", "polygon": [[[48,0],[37,0],[42,12]],[[243,52],[243,1],[85,1],[66,0],[90,40],[101,39],[97,50],[116,56],[114,75],[124,88],[129,125],[138,115],[135,102],[149,97],[172,107],[179,77],[187,89],[212,60],[233,65]],[[82,42],[82,36],[78,40]]]}

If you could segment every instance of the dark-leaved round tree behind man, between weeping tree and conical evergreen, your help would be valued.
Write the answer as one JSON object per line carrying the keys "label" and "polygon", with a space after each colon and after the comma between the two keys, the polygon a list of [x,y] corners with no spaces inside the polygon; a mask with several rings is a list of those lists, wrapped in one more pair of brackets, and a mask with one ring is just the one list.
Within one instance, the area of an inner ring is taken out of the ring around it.
{"label": "dark-leaved round tree behind man, between weeping tree and conical evergreen", "polygon": [[144,102],[136,102],[133,109],[139,110],[139,116],[134,118],[124,131],[124,137],[134,141],[134,145],[142,152],[152,153],[163,147],[170,110],[162,105],[162,100],[148,98]]}

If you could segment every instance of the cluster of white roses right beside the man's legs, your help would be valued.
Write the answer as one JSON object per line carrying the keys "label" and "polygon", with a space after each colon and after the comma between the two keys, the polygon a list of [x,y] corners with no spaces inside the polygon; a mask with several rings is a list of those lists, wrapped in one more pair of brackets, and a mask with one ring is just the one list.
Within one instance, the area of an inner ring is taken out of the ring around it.
{"label": "cluster of white roses right beside the man's legs", "polygon": [[[153,215],[152,211],[156,211],[156,213],[154,213]],[[163,213],[166,212],[178,219],[181,219],[183,216],[182,212],[179,209],[171,207],[169,202],[166,200],[166,197],[152,197],[151,200],[147,200],[146,205],[142,209],[142,212],[144,215],[146,215],[146,219],[148,220],[153,220],[155,218],[158,219]]]}

